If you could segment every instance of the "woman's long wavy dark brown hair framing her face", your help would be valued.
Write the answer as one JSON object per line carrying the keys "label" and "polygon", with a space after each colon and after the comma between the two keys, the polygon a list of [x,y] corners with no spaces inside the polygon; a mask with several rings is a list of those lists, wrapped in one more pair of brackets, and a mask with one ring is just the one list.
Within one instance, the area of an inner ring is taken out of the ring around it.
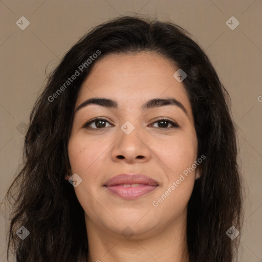
{"label": "woman's long wavy dark brown hair framing her face", "polygon": [[[139,16],[120,16],[93,28],[50,74],[30,115],[24,164],[6,194],[12,208],[7,256],[11,250],[17,262],[86,260],[84,210],[64,179],[70,168],[68,141],[76,98],[93,65],[106,54],[140,51],[161,54],[187,74],[183,84],[192,107],[198,158],[206,156],[188,203],[189,260],[234,260],[239,236],[231,240],[226,232],[231,226],[241,231],[243,200],[231,100],[208,57],[186,30]],[[91,63],[86,62],[98,52]],[[76,70],[79,75],[65,86]],[[24,240],[16,235],[21,226],[30,232]]]}

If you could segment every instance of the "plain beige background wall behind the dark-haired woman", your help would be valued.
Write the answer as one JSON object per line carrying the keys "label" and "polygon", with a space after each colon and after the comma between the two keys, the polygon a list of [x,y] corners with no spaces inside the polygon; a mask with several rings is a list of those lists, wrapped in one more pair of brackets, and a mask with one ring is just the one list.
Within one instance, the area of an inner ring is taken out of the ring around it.
{"label": "plain beige background wall behind the dark-haired woman", "polygon": [[[228,90],[247,199],[238,261],[262,261],[261,0],[0,1],[0,200],[21,163],[29,113],[46,73],[91,27],[132,12],[170,20],[193,34]],[[21,16],[30,21],[25,30],[16,25]],[[234,30],[226,25],[231,16],[240,23]],[[6,261],[6,222],[2,213],[1,261]]]}

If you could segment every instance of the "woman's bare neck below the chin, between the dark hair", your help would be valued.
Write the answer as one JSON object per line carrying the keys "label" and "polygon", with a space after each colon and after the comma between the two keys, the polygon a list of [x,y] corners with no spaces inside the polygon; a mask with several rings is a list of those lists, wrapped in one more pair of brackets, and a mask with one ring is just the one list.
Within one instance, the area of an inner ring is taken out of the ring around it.
{"label": "woman's bare neck below the chin, between the dark hair", "polygon": [[88,262],[188,262],[184,218],[181,216],[163,228],[125,238],[86,217]]}

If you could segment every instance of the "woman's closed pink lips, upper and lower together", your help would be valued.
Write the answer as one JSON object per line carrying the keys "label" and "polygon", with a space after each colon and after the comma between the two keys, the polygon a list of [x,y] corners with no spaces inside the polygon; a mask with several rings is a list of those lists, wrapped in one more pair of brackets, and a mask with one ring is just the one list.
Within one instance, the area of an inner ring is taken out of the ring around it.
{"label": "woman's closed pink lips, upper and lower together", "polygon": [[[124,187],[123,185],[140,184],[139,186]],[[119,174],[106,181],[104,187],[111,193],[126,200],[133,200],[159,186],[158,182],[143,174]]]}

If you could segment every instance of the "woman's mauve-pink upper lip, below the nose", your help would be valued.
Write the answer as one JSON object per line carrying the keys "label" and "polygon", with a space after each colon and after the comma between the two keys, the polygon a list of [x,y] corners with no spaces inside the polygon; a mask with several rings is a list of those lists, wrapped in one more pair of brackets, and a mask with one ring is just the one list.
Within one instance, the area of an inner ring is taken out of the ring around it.
{"label": "woman's mauve-pink upper lip, below the nose", "polygon": [[150,186],[158,186],[158,182],[144,174],[118,174],[117,176],[108,179],[104,186],[115,186],[122,184],[144,184]]}

